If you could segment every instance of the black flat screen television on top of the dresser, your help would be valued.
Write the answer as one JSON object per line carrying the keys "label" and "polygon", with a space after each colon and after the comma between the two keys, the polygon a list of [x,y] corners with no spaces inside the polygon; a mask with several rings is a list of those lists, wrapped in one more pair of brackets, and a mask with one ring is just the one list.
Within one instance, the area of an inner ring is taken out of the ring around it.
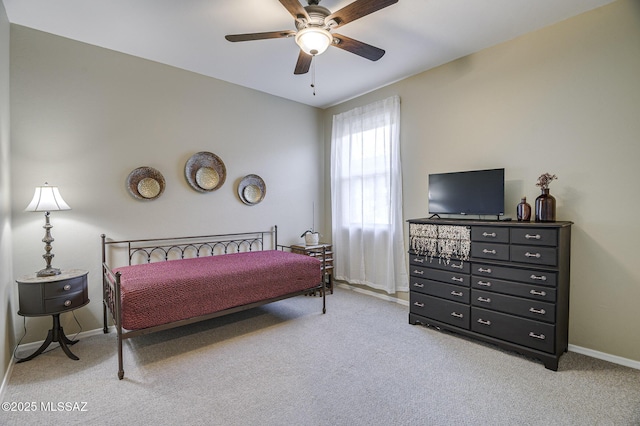
{"label": "black flat screen television on top of the dresser", "polygon": [[429,213],[504,215],[504,169],[429,175]]}

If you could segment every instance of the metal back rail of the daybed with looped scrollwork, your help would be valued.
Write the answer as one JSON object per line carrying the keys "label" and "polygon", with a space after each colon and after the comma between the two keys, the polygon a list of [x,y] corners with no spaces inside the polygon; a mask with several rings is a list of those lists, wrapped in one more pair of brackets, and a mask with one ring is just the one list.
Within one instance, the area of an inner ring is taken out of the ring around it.
{"label": "metal back rail of the daybed with looped scrollwork", "polygon": [[[278,227],[270,231],[236,234],[198,235],[190,237],[107,241],[102,238],[102,262],[110,255],[128,257],[128,264],[160,262],[191,257],[215,256],[244,251],[261,251],[278,246]],[[125,254],[126,253],[126,254]]]}

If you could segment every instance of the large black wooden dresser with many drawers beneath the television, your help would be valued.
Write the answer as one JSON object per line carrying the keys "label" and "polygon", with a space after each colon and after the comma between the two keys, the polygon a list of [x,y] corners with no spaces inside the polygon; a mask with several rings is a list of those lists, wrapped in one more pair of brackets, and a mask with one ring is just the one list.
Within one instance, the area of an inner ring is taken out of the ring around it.
{"label": "large black wooden dresser with many drawers beneath the television", "polygon": [[[410,324],[470,336],[558,369],[568,347],[572,222],[408,222]],[[455,229],[464,241],[438,233],[451,227],[462,227]],[[448,244],[468,254],[445,256],[438,247]]]}

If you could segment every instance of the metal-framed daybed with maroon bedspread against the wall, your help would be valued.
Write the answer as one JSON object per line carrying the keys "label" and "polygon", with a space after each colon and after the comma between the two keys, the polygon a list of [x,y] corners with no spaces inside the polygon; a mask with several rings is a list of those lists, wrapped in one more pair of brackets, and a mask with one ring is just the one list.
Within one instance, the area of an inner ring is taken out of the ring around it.
{"label": "metal-framed daybed with maroon bedspread against the wall", "polygon": [[[299,295],[320,294],[326,253],[292,253],[271,231],[109,240],[102,235],[104,333],[113,322],[118,378],[123,341]],[[267,247],[269,246],[269,247]],[[115,267],[113,265],[124,265]]]}

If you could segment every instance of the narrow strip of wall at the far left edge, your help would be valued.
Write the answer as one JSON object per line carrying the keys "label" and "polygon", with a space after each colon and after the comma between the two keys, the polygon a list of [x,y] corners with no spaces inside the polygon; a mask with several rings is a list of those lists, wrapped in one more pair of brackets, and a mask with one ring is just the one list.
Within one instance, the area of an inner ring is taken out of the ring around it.
{"label": "narrow strip of wall at the far left edge", "polygon": [[9,182],[9,27],[4,4],[0,1],[0,377],[4,377],[15,344]]}

